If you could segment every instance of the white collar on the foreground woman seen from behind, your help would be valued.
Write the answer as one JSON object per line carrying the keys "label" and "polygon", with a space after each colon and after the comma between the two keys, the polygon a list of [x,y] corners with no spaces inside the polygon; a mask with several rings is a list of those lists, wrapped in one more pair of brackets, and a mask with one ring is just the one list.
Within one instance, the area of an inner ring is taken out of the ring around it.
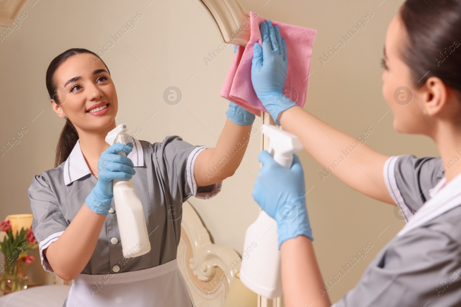
{"label": "white collar on the foreground woman seen from behind", "polygon": [[397,233],[398,237],[461,205],[461,174],[445,185],[446,180],[443,176],[437,185],[429,190],[431,198],[413,214]]}

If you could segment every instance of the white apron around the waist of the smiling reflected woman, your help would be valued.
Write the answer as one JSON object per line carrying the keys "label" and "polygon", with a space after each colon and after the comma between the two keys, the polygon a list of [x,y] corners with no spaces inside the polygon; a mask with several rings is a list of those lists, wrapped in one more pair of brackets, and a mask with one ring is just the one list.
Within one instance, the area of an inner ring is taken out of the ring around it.
{"label": "white apron around the waist of the smiling reflected woman", "polygon": [[138,271],[79,274],[72,282],[65,307],[192,307],[176,259]]}

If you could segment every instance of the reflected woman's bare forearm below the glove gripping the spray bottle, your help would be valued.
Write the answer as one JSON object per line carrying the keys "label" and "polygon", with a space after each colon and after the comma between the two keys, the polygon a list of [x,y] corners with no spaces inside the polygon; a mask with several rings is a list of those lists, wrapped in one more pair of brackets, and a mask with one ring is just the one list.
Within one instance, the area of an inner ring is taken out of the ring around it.
{"label": "reflected woman's bare forearm below the glove gripping the spray bottle", "polygon": [[63,234],[44,251],[53,271],[72,280],[83,271],[95,251],[106,215],[94,213],[83,203]]}

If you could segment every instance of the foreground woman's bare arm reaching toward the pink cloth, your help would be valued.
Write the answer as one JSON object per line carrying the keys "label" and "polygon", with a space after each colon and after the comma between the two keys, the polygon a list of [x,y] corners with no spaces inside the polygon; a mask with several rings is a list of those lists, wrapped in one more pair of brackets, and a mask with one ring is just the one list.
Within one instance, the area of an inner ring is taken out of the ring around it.
{"label": "foreground woman's bare arm reaching toward the pink cloth", "polygon": [[295,134],[304,149],[326,168],[322,180],[331,173],[356,191],[394,204],[387,193],[383,175],[388,156],[321,121],[300,106],[285,110],[278,120],[284,130]]}

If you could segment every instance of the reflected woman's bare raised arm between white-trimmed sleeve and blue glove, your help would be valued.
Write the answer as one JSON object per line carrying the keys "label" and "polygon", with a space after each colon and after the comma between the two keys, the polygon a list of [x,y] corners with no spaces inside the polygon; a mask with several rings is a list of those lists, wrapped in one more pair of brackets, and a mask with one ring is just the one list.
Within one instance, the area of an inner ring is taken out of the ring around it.
{"label": "reflected woman's bare raised arm between white-trimmed sleeve and blue glove", "polygon": [[198,186],[212,185],[235,173],[252,136],[251,127],[226,119],[216,147],[202,151],[195,160],[194,176]]}

